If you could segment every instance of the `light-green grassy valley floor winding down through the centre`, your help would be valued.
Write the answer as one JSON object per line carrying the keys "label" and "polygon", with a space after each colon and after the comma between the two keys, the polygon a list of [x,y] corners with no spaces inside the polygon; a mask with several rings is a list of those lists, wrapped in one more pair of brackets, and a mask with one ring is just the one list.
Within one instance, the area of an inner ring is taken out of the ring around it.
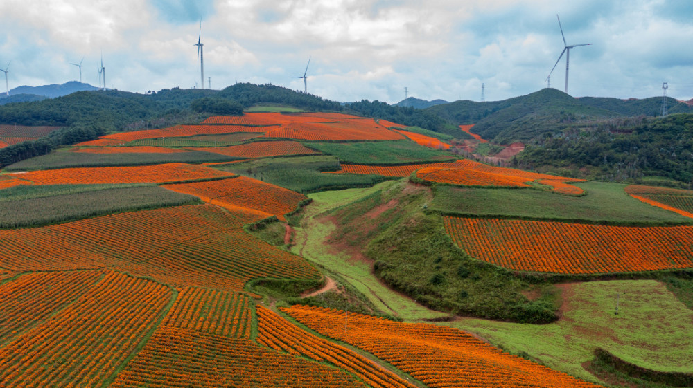
{"label": "light-green grassy valley floor winding down through the centre", "polygon": [[353,260],[349,252],[336,252],[324,243],[336,227],[329,219],[321,218],[321,214],[393,184],[393,182],[384,182],[365,189],[310,194],[309,197],[313,199],[313,203],[304,209],[301,226],[295,228],[296,245],[292,248],[292,252],[340,275],[360,293],[366,295],[383,313],[401,317],[404,320],[440,317],[444,314],[430,311],[383,285],[372,273],[371,264],[368,262]]}

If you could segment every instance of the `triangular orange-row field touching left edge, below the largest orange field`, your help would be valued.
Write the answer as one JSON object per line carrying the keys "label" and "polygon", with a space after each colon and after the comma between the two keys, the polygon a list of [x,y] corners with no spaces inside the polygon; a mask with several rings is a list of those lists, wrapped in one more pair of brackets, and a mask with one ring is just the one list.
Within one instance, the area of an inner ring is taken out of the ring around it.
{"label": "triangular orange-row field touching left edge, below the largest orange field", "polygon": [[99,271],[34,272],[0,286],[0,344],[82,296]]}

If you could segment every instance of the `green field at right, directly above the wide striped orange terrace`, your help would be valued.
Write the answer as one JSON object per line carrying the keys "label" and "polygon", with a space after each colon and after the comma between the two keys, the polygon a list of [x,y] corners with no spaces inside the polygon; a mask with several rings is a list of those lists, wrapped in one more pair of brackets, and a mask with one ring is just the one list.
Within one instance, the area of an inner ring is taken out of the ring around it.
{"label": "green field at right, directly above the wide striped orange terrace", "polygon": [[692,223],[692,219],[642,203],[620,183],[576,183],[585,196],[532,189],[438,186],[430,209],[462,216],[582,220],[591,223]]}

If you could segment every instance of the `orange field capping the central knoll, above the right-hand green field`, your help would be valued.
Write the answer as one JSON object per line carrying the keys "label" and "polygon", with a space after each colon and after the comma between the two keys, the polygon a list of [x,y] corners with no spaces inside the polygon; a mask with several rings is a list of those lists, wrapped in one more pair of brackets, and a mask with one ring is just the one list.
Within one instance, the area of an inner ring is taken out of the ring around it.
{"label": "orange field capping the central knoll, above the right-hand green field", "polygon": [[425,181],[453,183],[470,186],[519,186],[528,187],[527,182],[539,181],[554,187],[554,192],[581,194],[579,187],[566,185],[566,182],[584,182],[584,179],[565,178],[526,172],[519,169],[484,165],[473,160],[459,160],[455,163],[436,163],[419,169],[416,177]]}

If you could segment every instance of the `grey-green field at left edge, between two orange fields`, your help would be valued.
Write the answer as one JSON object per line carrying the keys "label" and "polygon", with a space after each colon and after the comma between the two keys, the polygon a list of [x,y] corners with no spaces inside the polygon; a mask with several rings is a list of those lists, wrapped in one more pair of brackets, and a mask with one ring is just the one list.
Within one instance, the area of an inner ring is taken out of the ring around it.
{"label": "grey-green field at left edge, between two orange fields", "polygon": [[0,190],[0,228],[36,227],[200,201],[157,185],[88,186],[17,186]]}

